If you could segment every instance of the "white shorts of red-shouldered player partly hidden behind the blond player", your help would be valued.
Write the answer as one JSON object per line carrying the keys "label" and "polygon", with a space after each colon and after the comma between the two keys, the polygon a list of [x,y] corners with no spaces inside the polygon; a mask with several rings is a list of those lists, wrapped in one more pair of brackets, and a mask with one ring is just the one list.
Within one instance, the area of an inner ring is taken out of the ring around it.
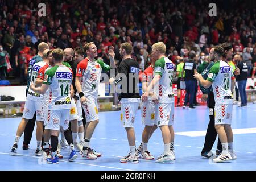
{"label": "white shorts of red-shouldered player partly hidden behind the blond player", "polygon": [[148,100],[147,102],[141,102],[141,121],[143,125],[156,125],[155,109],[156,104],[153,101]]}

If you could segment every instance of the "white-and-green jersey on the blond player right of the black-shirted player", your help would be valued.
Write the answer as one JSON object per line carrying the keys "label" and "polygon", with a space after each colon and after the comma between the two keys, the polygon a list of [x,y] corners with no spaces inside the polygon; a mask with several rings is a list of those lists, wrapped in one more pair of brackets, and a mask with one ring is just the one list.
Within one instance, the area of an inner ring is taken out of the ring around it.
{"label": "white-and-green jersey on the blond player right of the black-shirted player", "polygon": [[158,85],[155,85],[154,92],[158,95],[160,103],[174,102],[172,91],[172,77],[175,65],[167,57],[162,57],[155,62],[155,75],[160,75]]}

